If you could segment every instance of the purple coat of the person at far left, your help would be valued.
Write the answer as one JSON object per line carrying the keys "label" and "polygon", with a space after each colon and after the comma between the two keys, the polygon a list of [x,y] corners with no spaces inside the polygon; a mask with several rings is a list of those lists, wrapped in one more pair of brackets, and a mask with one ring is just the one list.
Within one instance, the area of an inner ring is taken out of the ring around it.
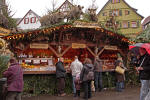
{"label": "purple coat of the person at far left", "polygon": [[11,64],[3,75],[7,77],[8,91],[23,91],[23,70],[18,63]]}

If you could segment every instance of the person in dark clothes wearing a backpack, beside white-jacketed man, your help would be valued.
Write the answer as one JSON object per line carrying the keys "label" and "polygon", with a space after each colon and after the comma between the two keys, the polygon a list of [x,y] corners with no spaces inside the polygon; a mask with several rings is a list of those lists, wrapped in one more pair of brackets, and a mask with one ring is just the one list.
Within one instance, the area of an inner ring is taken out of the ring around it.
{"label": "person in dark clothes wearing a backpack, beside white-jacketed man", "polygon": [[89,72],[89,70],[93,70],[94,71],[94,66],[92,64],[92,61],[87,58],[84,61],[84,65],[80,74],[80,80],[82,81],[82,85],[84,87],[84,99],[88,100],[88,98],[92,97],[92,92],[91,92],[91,82],[92,80],[88,80],[87,78],[87,74]]}

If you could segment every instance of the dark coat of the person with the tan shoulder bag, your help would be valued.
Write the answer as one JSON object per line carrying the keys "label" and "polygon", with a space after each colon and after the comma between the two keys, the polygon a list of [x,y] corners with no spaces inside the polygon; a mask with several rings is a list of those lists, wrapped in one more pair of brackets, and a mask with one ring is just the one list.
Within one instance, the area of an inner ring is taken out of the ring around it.
{"label": "dark coat of the person with the tan shoulder bag", "polygon": [[[120,60],[116,60],[116,62],[115,62],[115,68],[117,66],[119,66],[119,62],[120,62]],[[120,66],[120,67],[123,68],[123,66]],[[120,73],[116,72],[115,75],[116,75],[117,82],[123,82],[123,81],[125,81],[125,75],[124,74],[120,74]]]}

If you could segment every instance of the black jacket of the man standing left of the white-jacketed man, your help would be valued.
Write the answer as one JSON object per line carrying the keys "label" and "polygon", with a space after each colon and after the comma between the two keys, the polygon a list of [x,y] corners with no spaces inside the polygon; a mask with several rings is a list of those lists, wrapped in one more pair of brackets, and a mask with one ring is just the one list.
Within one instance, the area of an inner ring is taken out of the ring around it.
{"label": "black jacket of the man standing left of the white-jacketed man", "polygon": [[56,63],[56,78],[65,78],[66,70],[64,68],[63,62],[59,61]]}

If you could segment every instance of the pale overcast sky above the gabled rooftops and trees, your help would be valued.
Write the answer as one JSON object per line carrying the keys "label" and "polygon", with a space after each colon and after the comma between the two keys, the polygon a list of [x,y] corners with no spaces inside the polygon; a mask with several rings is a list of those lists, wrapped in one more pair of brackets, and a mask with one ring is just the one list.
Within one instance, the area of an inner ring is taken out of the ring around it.
{"label": "pale overcast sky above the gabled rooftops and trees", "polygon": [[[56,0],[57,6],[59,7],[65,0]],[[69,0],[72,1],[72,0]],[[97,12],[106,4],[108,0],[96,0],[98,6]],[[125,0],[131,7],[138,9],[138,13],[144,17],[150,15],[150,0]],[[47,9],[52,9],[52,0],[6,0],[11,5],[11,9],[15,15],[14,18],[22,18],[24,15],[32,9],[39,16],[43,16]],[[84,8],[88,8],[92,0],[73,0],[74,4],[80,4]]]}

